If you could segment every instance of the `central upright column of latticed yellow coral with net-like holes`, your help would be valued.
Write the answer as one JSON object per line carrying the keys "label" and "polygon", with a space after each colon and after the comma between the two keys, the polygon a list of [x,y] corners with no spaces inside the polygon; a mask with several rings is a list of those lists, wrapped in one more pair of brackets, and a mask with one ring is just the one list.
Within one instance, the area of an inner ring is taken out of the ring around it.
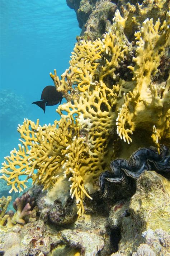
{"label": "central upright column of latticed yellow coral with net-like holes", "polygon": [[[97,51],[96,58],[93,56],[95,51]],[[115,119],[112,109],[115,104],[113,103],[115,94],[109,84],[104,81],[107,75],[114,76],[118,62],[123,58],[123,52],[124,49],[121,50],[119,47],[115,35],[110,33],[103,41],[98,39],[95,42],[81,41],[80,44],[76,44],[71,57],[71,72],[74,73],[71,81],[79,91],[79,99],[60,105],[57,112],[62,115],[62,112],[66,111],[68,113],[65,114],[66,118],[75,115],[79,129],[86,136],[90,157],[86,159],[86,167],[83,171],[85,183],[91,183],[91,179],[95,183],[108,161],[108,143]],[[96,60],[101,57],[103,57],[103,62],[100,65]],[[54,78],[53,75],[51,76]],[[58,87],[58,84],[55,84]]]}

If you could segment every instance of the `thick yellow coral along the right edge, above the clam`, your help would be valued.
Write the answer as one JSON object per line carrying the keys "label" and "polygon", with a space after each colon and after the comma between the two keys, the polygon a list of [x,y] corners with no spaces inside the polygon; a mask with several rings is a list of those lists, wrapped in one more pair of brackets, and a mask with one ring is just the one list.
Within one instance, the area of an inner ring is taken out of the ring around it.
{"label": "thick yellow coral along the right edge, above the clam", "polygon": [[[157,72],[166,47],[170,44],[169,19],[170,13],[167,13],[167,21],[164,21],[161,27],[159,19],[155,25],[152,19],[147,19],[143,22],[141,31],[135,33],[136,40],[138,40],[136,42],[136,57],[133,57],[135,66],[128,67],[133,72],[133,90],[126,95],[117,118],[118,134],[120,136],[123,133],[127,142],[131,141],[128,133],[132,134],[132,131],[143,123],[142,119],[150,127],[153,122],[152,125],[157,123],[161,130],[169,129],[167,104],[169,102],[169,80],[166,86],[162,87],[162,96],[158,95],[157,88],[151,81],[151,77]],[[134,101],[134,98],[137,99]],[[152,120],[150,120],[151,116]],[[130,129],[124,128],[126,122],[131,127]],[[167,122],[168,124],[165,126]],[[162,131],[162,133],[164,132]]]}

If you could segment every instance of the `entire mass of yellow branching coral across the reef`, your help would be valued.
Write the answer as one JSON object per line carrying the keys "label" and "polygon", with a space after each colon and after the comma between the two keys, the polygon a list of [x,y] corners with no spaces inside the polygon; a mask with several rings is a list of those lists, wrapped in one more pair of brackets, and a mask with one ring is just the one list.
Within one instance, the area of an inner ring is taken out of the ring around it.
{"label": "entire mass of yellow branching coral across the reef", "polygon": [[[118,15],[114,24],[121,20]],[[170,12],[162,25],[159,19],[155,25],[146,19],[135,32],[136,46],[119,41],[112,32],[103,40],[75,45],[62,79],[56,71],[50,74],[67,99],[57,109],[61,120],[48,126],[24,120],[18,127],[22,145],[5,157],[0,171],[10,192],[23,191],[29,178],[50,189],[64,174],[72,182],[70,195],[76,198],[77,214],[83,216],[84,196],[91,198],[86,188],[89,193],[98,188],[100,173],[117,156],[119,138],[130,144],[136,140],[133,132],[143,129],[158,150],[160,142],[170,144],[170,77],[159,86],[152,82],[170,45],[169,24]],[[123,79],[119,71],[122,67],[124,72],[127,62]],[[27,179],[20,180],[22,175]]]}

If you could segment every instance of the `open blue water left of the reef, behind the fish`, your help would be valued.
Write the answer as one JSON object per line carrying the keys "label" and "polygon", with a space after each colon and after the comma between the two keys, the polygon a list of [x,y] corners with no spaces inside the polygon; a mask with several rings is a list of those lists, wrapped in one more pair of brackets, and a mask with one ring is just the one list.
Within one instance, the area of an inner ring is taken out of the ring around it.
{"label": "open blue water left of the reef, behind the fish", "polygon": [[[60,76],[69,67],[71,51],[80,35],[74,10],[66,0],[0,1],[0,161],[17,148],[18,123],[23,118],[40,124],[60,117],[57,105],[46,113],[32,102],[53,85],[49,73]],[[6,90],[6,91],[3,91]],[[64,102],[64,100],[63,100]],[[0,162],[0,163],[1,163]]]}

